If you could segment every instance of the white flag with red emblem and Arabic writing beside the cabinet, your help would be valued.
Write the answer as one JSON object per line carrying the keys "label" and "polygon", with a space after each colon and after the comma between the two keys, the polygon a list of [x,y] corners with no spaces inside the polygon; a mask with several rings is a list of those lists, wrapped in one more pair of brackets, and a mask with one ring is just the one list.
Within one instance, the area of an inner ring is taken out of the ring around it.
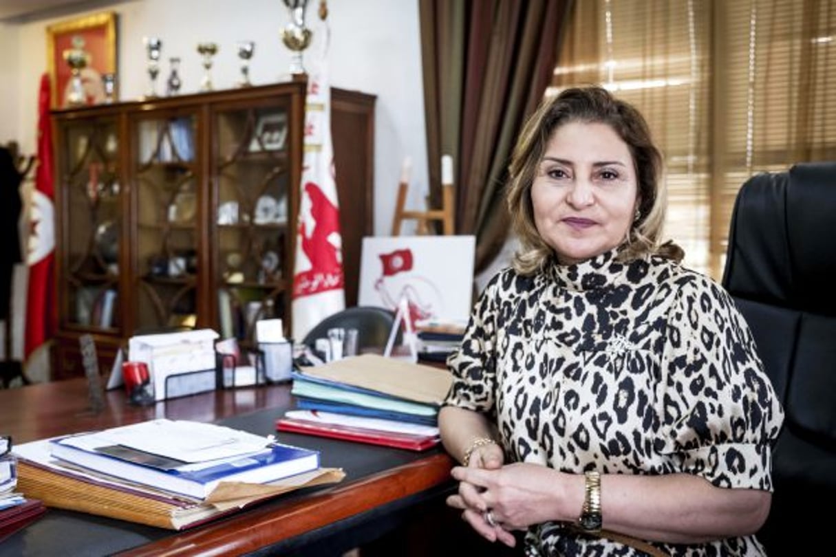
{"label": "white flag with red emblem and Arabic writing beside the cabinet", "polygon": [[[327,53],[327,30],[326,30]],[[301,340],[345,307],[343,237],[334,181],[331,88],[326,55],[319,73],[308,76],[304,160],[293,269],[293,338]]]}

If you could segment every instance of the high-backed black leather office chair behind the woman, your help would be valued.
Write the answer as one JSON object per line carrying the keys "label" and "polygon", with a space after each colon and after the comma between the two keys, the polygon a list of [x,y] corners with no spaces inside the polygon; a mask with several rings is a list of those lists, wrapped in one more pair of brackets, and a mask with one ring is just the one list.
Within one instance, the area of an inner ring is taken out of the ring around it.
{"label": "high-backed black leather office chair behind the woman", "polygon": [[820,554],[836,544],[836,163],[795,165],[743,185],[722,282],[786,416],[758,539],[771,556]]}

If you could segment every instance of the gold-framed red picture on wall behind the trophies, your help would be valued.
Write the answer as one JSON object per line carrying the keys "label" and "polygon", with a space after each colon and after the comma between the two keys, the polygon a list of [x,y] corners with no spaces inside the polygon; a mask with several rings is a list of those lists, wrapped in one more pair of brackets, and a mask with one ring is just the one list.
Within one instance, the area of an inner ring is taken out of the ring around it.
{"label": "gold-framed red picture on wall behind the trophies", "polygon": [[81,69],[84,104],[104,101],[102,76],[116,73],[116,13],[94,13],[47,28],[47,68],[55,108],[67,105],[72,72],[64,53],[72,48],[81,48],[86,54],[87,64]]}

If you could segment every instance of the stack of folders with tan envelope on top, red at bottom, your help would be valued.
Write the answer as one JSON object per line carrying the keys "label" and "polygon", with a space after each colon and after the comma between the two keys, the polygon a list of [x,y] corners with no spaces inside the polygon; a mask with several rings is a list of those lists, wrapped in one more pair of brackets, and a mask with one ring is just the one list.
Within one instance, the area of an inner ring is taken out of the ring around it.
{"label": "stack of folders with tan envelope on top, red at bottom", "polygon": [[439,443],[446,370],[364,354],[293,372],[298,410],[279,431],[424,450]]}

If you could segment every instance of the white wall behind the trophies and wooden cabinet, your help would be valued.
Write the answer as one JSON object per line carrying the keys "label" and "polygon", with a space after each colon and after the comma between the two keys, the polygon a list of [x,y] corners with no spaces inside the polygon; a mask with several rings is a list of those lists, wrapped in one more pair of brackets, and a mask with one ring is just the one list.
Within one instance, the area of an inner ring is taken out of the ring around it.
{"label": "white wall behind the trophies and wooden cabinet", "polygon": [[[46,71],[46,28],[86,13],[108,9],[118,14],[121,99],[145,93],[144,36],[162,40],[157,91],[164,90],[171,56],[182,60],[181,92],[196,91],[202,68],[195,46],[201,41],[214,41],[220,48],[212,68],[216,89],[232,87],[238,77],[238,40],[256,42],[250,69],[254,84],[273,83],[288,73],[290,53],[279,36],[288,23],[288,11],[280,0],[93,0],[81,5],[91,9],[27,23],[0,23],[0,142],[17,139],[24,152],[34,152],[38,84]],[[318,7],[317,0],[308,0],[309,27],[319,24]],[[377,95],[375,234],[388,235],[406,155],[413,160],[410,204],[420,203],[427,190],[418,3],[331,0],[328,8],[331,84]],[[307,62],[314,60],[321,37],[322,33],[315,35],[314,44],[306,51]]]}

